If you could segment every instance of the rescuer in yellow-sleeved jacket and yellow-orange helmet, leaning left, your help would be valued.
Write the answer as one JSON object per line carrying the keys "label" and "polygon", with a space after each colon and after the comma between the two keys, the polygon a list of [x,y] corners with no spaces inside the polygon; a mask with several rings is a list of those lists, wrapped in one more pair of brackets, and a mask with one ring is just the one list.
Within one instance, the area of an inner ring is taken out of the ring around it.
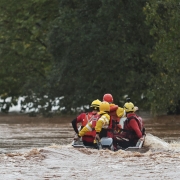
{"label": "rescuer in yellow-sleeved jacket and yellow-orange helmet, leaning left", "polygon": [[93,131],[95,129],[96,138],[100,140],[102,137],[107,137],[107,128],[109,126],[110,116],[110,105],[107,102],[102,102],[99,106],[99,119],[96,122],[95,127],[92,127],[92,123],[88,123],[80,132],[79,136],[83,137],[86,132]]}

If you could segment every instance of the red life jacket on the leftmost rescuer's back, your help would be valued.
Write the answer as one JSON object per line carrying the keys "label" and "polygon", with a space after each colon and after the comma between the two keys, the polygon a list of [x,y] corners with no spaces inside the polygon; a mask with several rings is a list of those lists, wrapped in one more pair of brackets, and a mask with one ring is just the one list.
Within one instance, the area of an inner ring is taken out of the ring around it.
{"label": "red life jacket on the leftmost rescuer's back", "polygon": [[94,128],[96,126],[96,122],[98,119],[99,119],[99,114],[93,115],[91,113],[86,113],[86,116],[82,121],[82,128],[86,126],[87,123],[91,123],[93,131],[86,132],[85,136],[93,136],[93,137],[96,136],[96,131],[94,130]]}

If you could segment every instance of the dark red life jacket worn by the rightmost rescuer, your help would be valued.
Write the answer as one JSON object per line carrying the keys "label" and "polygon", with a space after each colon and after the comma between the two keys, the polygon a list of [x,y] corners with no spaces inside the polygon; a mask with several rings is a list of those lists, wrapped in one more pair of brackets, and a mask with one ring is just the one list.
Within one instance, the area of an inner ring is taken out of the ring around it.
{"label": "dark red life jacket worn by the rightmost rescuer", "polygon": [[139,139],[139,138],[137,137],[136,133],[135,133],[134,131],[127,130],[127,128],[126,128],[126,127],[128,126],[128,124],[129,124],[129,122],[130,122],[132,119],[135,119],[135,120],[136,120],[140,131],[142,132],[143,135],[145,134],[145,128],[144,128],[144,126],[143,126],[142,118],[139,117],[139,116],[136,116],[136,115],[127,117],[127,119],[124,121],[124,129],[123,129],[123,132],[125,132],[126,138],[128,138],[128,139],[130,139],[130,140],[137,140],[137,139]]}

